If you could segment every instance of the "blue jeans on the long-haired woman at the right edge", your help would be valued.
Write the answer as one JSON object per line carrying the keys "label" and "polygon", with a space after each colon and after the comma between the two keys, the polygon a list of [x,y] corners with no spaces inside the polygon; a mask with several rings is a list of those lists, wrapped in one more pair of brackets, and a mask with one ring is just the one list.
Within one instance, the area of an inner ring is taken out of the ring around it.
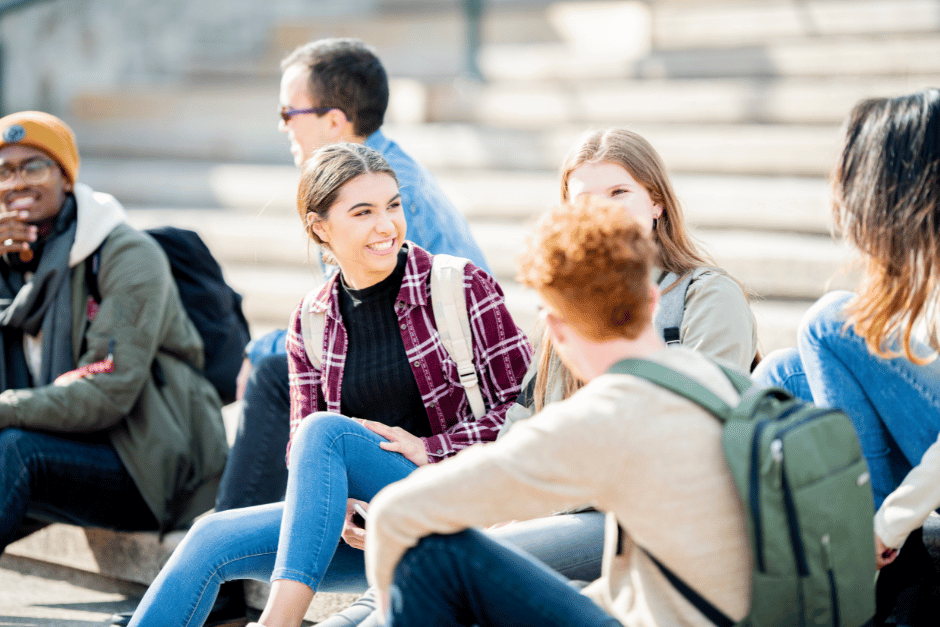
{"label": "blue jeans on the long-haired woman at the right edge", "polygon": [[[852,297],[842,291],[822,297],[800,324],[799,346],[769,355],[754,379],[848,414],[880,507],[940,434],[940,360],[919,366],[872,355],[851,328],[843,331]],[[923,346],[915,352],[929,354]]]}

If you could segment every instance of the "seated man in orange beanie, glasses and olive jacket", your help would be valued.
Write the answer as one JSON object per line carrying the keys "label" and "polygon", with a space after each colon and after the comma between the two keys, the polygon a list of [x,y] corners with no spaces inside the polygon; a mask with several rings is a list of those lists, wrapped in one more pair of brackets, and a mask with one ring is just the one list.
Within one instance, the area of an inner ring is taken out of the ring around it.
{"label": "seated man in orange beanie, glasses and olive jacket", "polygon": [[79,165],[62,120],[0,118],[0,552],[27,519],[180,526],[212,507],[225,464],[169,262]]}

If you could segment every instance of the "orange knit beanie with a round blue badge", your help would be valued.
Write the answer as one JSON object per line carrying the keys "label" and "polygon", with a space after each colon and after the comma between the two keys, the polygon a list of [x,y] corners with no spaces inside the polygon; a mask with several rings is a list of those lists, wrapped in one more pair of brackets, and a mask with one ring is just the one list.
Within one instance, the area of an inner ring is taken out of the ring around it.
{"label": "orange knit beanie with a round blue badge", "polygon": [[42,111],[20,111],[0,118],[0,148],[21,144],[38,148],[55,159],[70,183],[78,176],[78,148],[68,125]]}

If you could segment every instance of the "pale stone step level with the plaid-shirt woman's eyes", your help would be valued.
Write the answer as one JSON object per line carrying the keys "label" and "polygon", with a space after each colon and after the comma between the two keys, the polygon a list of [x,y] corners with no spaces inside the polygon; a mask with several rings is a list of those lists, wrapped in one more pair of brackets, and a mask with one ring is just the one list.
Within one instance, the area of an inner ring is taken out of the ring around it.
{"label": "pale stone step level with the plaid-shirt woman's eyes", "polygon": [[[471,222],[529,223],[559,200],[556,171],[437,170],[435,175]],[[81,171],[84,182],[113,194],[125,206],[150,207],[134,211],[141,216],[149,212],[154,224],[207,220],[213,230],[236,230],[237,225],[227,223],[251,220],[264,237],[246,240],[245,245],[277,238],[281,229],[295,230],[298,177],[292,165],[160,160],[85,159]],[[821,178],[677,174],[673,183],[693,226],[819,234],[830,230],[829,188]],[[289,247],[296,248],[296,241],[291,239]],[[239,259],[250,261],[257,254],[252,249]]]}

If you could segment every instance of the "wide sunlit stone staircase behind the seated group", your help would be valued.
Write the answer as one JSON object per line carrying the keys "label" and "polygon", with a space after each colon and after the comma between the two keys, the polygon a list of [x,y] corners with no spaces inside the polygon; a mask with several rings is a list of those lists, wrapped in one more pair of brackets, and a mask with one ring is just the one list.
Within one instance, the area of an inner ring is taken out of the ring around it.
{"label": "wide sunlit stone staircase behind the seated group", "polygon": [[[140,227],[199,231],[245,295],[253,332],[283,326],[312,273],[297,171],[276,132],[277,60],[318,36],[361,36],[395,77],[386,133],[467,216],[522,328],[537,303],[513,261],[557,201],[567,147],[587,127],[626,125],[661,152],[695,235],[753,293],[767,353],[793,345],[816,298],[854,285],[852,254],[830,235],[825,180],[849,109],[940,84],[940,0],[498,2],[483,23],[482,84],[458,75],[464,25],[453,7],[285,23],[257,58],[200,66],[187,84],[87,93],[69,118],[82,179]],[[140,582],[178,541],[41,533],[10,550]],[[77,561],[56,548],[65,535]],[[92,559],[94,546],[130,557]],[[149,566],[133,571],[139,562]]]}

